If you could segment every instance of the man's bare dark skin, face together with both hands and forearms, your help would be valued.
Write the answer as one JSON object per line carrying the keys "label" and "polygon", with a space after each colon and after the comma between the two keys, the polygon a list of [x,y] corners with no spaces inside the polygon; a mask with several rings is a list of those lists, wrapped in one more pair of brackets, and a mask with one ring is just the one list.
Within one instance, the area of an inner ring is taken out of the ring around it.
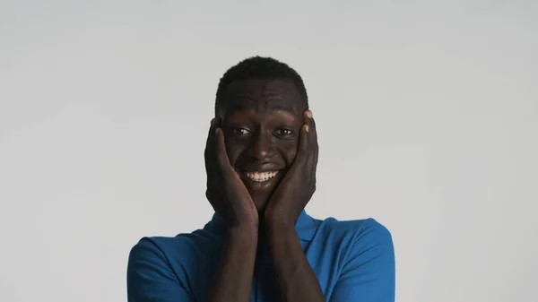
{"label": "man's bare dark skin, face together with both hands and forearms", "polygon": [[232,82],[225,98],[205,151],[206,195],[228,227],[208,301],[250,300],[259,242],[269,246],[282,301],[325,301],[295,230],[316,191],[312,113],[289,80]]}

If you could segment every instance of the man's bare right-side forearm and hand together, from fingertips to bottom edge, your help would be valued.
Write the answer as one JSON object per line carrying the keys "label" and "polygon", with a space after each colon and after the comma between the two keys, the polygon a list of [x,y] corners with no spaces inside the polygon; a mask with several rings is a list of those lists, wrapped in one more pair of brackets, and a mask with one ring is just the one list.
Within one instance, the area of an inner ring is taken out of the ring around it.
{"label": "man's bare right-side forearm and hand together, from fingertips to bottom edge", "polygon": [[317,134],[312,112],[304,113],[298,152],[265,209],[265,230],[282,301],[321,302],[325,297],[295,230],[300,212],[316,191]]}

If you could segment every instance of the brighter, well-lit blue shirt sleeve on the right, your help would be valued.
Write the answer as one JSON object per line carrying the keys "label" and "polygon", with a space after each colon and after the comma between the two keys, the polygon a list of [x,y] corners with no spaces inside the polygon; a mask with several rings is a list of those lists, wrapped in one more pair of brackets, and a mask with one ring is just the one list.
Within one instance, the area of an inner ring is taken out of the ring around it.
{"label": "brighter, well-lit blue shirt sleeve on the right", "polygon": [[393,240],[376,220],[367,220],[355,238],[329,301],[395,301]]}

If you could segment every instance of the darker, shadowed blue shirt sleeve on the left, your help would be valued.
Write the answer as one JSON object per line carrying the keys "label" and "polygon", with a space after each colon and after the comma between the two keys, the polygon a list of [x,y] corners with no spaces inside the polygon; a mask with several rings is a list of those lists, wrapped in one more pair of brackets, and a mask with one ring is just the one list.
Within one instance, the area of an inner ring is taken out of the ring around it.
{"label": "darker, shadowed blue shirt sleeve on the left", "polygon": [[132,249],[127,264],[128,302],[192,302],[159,246],[143,238]]}

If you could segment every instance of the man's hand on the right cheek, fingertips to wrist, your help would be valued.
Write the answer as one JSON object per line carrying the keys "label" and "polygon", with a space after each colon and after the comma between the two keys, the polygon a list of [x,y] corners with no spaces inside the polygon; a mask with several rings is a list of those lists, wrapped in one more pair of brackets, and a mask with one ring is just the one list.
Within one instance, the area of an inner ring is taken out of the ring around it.
{"label": "man's hand on the right cheek, fingertips to wrist", "polygon": [[301,211],[316,191],[317,133],[312,112],[304,113],[297,156],[274,191],[264,213],[268,226],[295,228]]}

